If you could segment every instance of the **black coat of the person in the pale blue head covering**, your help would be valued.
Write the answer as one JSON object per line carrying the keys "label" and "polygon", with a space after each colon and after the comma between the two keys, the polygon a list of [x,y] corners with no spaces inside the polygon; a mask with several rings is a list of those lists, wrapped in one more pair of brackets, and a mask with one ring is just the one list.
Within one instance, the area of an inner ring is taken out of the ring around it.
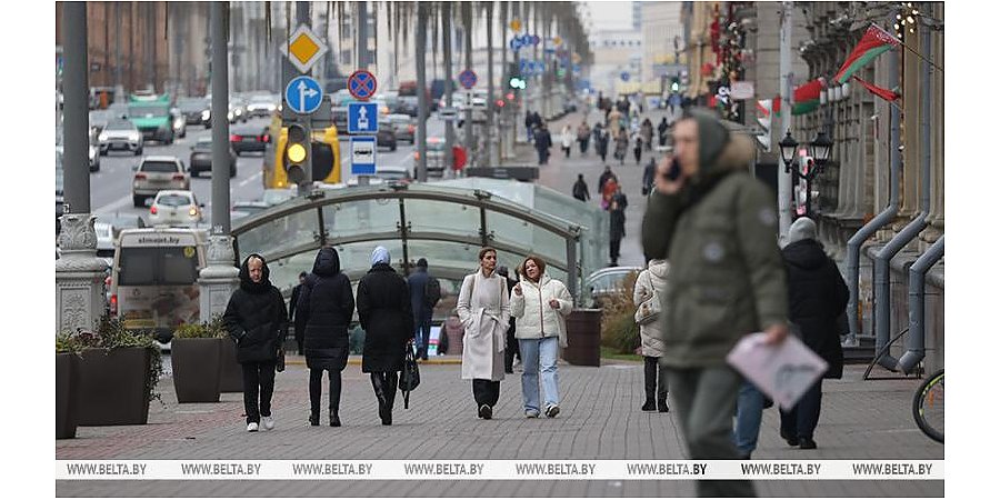
{"label": "black coat of the person in the pale blue head covering", "polygon": [[358,284],[358,319],[364,330],[364,373],[400,371],[413,338],[410,289],[396,270],[378,263]]}

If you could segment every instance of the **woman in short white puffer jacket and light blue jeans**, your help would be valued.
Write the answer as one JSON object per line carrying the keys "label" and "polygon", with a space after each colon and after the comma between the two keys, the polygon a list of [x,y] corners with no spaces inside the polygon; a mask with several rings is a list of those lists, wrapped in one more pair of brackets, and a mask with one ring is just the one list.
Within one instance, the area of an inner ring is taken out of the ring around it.
{"label": "woman in short white puffer jacket and light blue jeans", "polygon": [[538,370],[541,364],[542,387],[546,391],[546,417],[559,414],[559,347],[566,347],[566,316],[573,310],[573,298],[566,284],[546,274],[546,261],[528,256],[518,268],[524,277],[513,288],[510,313],[517,318],[518,344],[521,347],[521,396],[524,416],[538,418]]}

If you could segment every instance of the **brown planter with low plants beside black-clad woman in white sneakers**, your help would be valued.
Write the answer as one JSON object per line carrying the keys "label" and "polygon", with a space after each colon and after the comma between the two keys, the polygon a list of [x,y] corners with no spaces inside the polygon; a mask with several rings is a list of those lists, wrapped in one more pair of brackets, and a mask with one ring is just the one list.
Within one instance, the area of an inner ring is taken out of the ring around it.
{"label": "brown planter with low plants beside black-clad woman in white sneakers", "polygon": [[226,336],[219,316],[210,322],[181,324],[174,331],[170,362],[177,402],[219,401]]}

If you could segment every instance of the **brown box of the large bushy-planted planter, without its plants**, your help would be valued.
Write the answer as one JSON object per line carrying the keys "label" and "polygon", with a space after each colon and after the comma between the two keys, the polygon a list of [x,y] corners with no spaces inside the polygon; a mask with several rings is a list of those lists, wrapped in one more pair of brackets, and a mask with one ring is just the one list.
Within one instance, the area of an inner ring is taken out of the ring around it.
{"label": "brown box of the large bushy-planted planter, without its plants", "polygon": [[137,426],[149,419],[146,348],[86,349],[79,360],[78,426]]}

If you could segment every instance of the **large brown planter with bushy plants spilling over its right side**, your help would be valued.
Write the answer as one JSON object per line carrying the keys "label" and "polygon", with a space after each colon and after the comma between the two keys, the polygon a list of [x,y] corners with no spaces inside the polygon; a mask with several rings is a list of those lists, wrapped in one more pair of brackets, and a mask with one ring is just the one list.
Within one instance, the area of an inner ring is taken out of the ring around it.
{"label": "large brown planter with bushy plants spilling over its right side", "polygon": [[72,334],[82,347],[77,423],[144,424],[150,401],[162,402],[156,388],[163,363],[152,334],[127,330],[119,318],[108,314],[96,330]]}

